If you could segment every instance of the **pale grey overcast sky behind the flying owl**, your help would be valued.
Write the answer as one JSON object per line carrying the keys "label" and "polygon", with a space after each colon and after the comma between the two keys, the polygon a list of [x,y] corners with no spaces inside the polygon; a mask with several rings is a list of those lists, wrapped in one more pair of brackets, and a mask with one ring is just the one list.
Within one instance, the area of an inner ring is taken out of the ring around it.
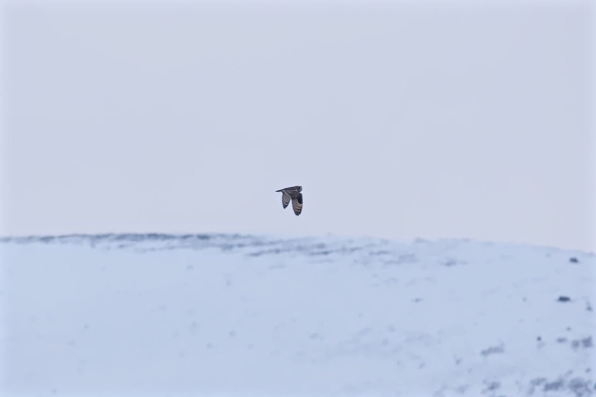
{"label": "pale grey overcast sky behind the flying owl", "polygon": [[589,1],[43,4],[4,5],[0,235],[596,250]]}

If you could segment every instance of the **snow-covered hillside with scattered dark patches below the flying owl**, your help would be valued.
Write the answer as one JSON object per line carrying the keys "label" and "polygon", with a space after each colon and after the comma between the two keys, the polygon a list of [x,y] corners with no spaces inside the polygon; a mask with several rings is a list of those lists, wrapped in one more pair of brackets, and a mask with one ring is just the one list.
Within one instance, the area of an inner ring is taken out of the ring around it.
{"label": "snow-covered hillside with scattered dark patches below the flying owl", "polygon": [[73,235],[0,261],[2,396],[596,395],[590,253]]}

